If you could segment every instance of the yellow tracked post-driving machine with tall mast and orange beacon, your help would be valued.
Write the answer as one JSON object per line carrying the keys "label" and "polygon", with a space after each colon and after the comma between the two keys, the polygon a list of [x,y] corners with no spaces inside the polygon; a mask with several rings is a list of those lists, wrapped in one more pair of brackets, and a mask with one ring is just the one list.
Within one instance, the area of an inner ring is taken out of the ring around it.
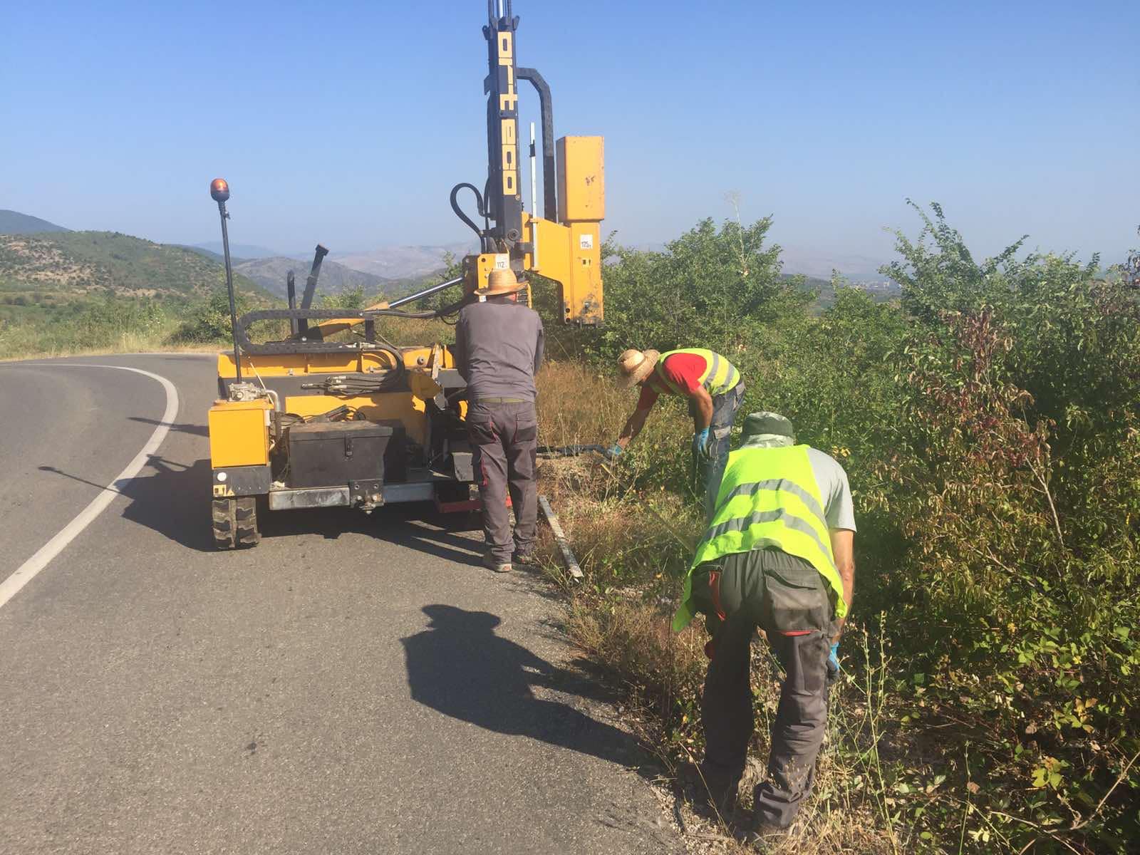
{"label": "yellow tracked post-driving machine with tall mast and orange beacon", "polygon": [[[229,187],[210,188],[221,215],[229,288],[233,352],[218,356],[219,399],[210,408],[213,534],[219,548],[254,545],[258,511],[358,507],[370,512],[399,502],[435,502],[442,510],[477,506],[472,453],[464,424],[465,382],[442,344],[396,348],[378,339],[380,317],[455,315],[479,298],[495,269],[537,274],[561,287],[562,320],[596,325],[603,318],[600,222],[605,215],[601,137],[554,139],[549,87],[519,67],[519,18],[511,0],[488,0],[488,170],[482,192],[456,185],[451,207],[479,237],[479,253],[463,259],[463,276],[363,311],[312,309],[327,250],[317,246],[300,301],[292,274],[288,309],[236,317],[229,258]],[[531,206],[522,198],[519,84],[538,92],[542,120],[543,215],[537,205],[537,160],[530,133]],[[458,195],[474,196],[478,226]],[[462,296],[439,310],[399,307],[451,287]],[[287,320],[291,334],[255,343],[259,320]]]}

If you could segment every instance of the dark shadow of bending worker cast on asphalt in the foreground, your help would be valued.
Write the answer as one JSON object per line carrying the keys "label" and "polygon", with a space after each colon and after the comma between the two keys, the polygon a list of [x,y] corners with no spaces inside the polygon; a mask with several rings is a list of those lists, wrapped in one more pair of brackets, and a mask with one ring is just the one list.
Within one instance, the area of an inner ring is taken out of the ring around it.
{"label": "dark shadow of bending worker cast on asphalt in the foreground", "polygon": [[534,692],[540,686],[612,700],[603,686],[496,635],[496,614],[445,604],[423,611],[431,618],[427,628],[401,640],[413,700],[488,731],[636,767],[648,777],[657,774],[644,765],[646,750],[633,735]]}

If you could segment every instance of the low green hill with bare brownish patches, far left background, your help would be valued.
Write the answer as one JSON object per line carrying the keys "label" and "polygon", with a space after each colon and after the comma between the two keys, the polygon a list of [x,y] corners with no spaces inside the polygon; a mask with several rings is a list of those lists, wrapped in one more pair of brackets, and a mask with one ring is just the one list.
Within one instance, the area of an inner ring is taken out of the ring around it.
{"label": "low green hill with bare brownish patches, far left background", "polygon": [[[117,231],[0,234],[0,291],[186,298],[225,282],[223,267],[197,252]],[[260,292],[250,279],[238,283]]]}

